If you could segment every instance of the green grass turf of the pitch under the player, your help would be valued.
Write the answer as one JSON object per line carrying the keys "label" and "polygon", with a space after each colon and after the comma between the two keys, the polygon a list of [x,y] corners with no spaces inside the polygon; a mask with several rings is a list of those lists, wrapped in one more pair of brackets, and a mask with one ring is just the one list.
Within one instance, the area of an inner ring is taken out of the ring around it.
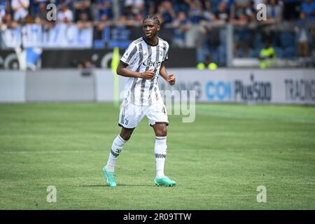
{"label": "green grass turf of the pitch under the player", "polygon": [[[153,185],[146,118],[118,158],[113,104],[0,104],[0,209],[315,209],[315,108],[198,104],[194,123],[169,116],[166,174]],[[55,186],[57,202],[47,203]],[[258,203],[258,186],[267,203]]]}

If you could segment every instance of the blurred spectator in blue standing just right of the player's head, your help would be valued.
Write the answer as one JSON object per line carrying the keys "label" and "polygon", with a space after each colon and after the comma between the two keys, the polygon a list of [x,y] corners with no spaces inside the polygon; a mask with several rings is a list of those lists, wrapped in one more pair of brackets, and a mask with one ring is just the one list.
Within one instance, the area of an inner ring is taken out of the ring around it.
{"label": "blurred spectator in blue standing just right of the player's head", "polygon": [[185,12],[179,12],[178,17],[173,22],[174,27],[174,36],[173,36],[173,45],[179,48],[185,46],[185,35],[186,31],[190,29],[191,22],[186,18]]}

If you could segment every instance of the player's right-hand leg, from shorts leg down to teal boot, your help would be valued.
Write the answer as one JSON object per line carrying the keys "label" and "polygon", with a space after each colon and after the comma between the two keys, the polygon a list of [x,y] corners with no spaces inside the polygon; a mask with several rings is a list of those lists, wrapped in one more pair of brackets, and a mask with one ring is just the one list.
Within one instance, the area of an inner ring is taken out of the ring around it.
{"label": "player's right-hand leg, from shorts leg down to teal boot", "polygon": [[151,106],[147,117],[155,132],[156,176],[154,182],[157,186],[175,186],[176,182],[169,179],[164,173],[167,156],[167,125],[169,123],[165,105],[160,103]]}

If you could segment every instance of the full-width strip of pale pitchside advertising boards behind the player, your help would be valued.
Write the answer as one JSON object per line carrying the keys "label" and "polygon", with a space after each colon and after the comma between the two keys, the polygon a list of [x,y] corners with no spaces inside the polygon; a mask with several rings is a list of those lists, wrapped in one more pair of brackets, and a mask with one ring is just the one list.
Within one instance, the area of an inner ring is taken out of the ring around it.
{"label": "full-width strip of pale pitchside advertising boards behind the player", "polygon": [[[14,86],[23,86],[27,96],[18,93],[19,100],[26,101],[85,101],[112,102],[114,100],[113,73],[110,69],[94,69],[90,76],[83,76],[80,69],[42,69],[27,71],[23,79],[10,76],[16,71],[0,71],[1,102],[10,102],[15,94]],[[161,92],[195,91],[195,102],[238,102],[253,104],[313,104],[315,105],[314,69],[168,69],[176,75],[176,85],[167,85],[159,78]],[[20,72],[22,73],[22,72]],[[64,74],[64,75],[62,75]],[[68,75],[66,75],[68,74]],[[123,92],[127,78],[119,77],[119,92]],[[66,79],[66,90],[58,91]],[[25,82],[25,84],[21,83]],[[87,82],[87,83],[86,83]],[[41,86],[38,85],[41,83]],[[44,86],[48,86],[51,90]],[[12,86],[12,88],[8,88]],[[10,91],[8,91],[8,90]],[[6,92],[4,92],[6,90]],[[35,91],[36,90],[36,91]],[[45,90],[45,91],[44,91]],[[16,90],[18,91],[18,90]],[[54,96],[54,92],[62,92]],[[73,97],[69,92],[77,92]],[[49,94],[48,94],[49,93]],[[80,97],[78,95],[82,94]],[[169,92],[167,92],[169,94]],[[38,96],[37,96],[38,95]],[[49,97],[48,97],[49,95]],[[47,98],[45,98],[45,96]],[[120,94],[120,99],[123,94]],[[11,100],[10,100],[11,99]]]}

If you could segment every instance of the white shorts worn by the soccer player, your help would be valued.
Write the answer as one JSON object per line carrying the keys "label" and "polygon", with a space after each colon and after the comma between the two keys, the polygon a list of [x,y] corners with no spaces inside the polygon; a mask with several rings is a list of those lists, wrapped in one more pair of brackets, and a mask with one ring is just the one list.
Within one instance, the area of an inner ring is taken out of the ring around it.
{"label": "white shorts worn by the soccer player", "polygon": [[144,116],[148,118],[148,124],[151,126],[161,123],[169,125],[167,110],[162,101],[141,106],[132,104],[127,99],[124,99],[120,105],[118,125],[125,128],[135,128]]}

